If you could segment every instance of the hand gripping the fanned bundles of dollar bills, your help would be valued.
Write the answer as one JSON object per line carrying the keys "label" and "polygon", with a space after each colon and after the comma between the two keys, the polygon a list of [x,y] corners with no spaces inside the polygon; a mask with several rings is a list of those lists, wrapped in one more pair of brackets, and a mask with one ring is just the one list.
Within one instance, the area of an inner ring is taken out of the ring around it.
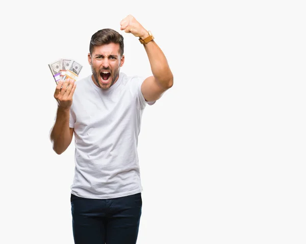
{"label": "hand gripping the fanned bundles of dollar bills", "polygon": [[70,109],[72,105],[72,96],[77,87],[72,79],[66,79],[65,81],[60,80],[54,93],[54,98],[57,100],[58,105],[64,109]]}

